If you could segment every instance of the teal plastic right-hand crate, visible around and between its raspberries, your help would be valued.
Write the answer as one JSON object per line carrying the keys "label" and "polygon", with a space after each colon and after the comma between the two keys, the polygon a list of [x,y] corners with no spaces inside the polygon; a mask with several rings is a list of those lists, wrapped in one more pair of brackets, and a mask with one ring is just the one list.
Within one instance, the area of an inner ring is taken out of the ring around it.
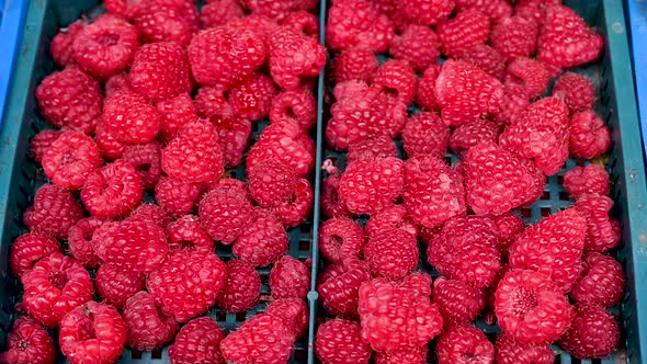
{"label": "teal plastic right-hand crate, visible around and between its raspberries", "polygon": [[[644,282],[647,277],[647,214],[645,212],[647,192],[622,1],[565,0],[564,3],[575,9],[605,38],[602,58],[594,65],[575,71],[586,73],[594,82],[597,90],[599,90],[595,111],[604,118],[612,130],[612,147],[606,168],[613,182],[611,197],[614,200],[615,205],[612,214],[620,219],[623,227],[623,244],[616,250],[616,257],[625,269],[627,289],[624,299],[618,305],[620,307],[616,308],[618,311],[615,312],[620,315],[623,329],[623,344],[620,350],[604,360],[580,361],[555,346],[556,363],[642,363],[643,357],[647,357],[647,322],[645,321],[647,319],[647,292],[639,287],[640,282]],[[324,143],[324,124],[318,125],[318,141],[320,143]],[[398,146],[400,146],[399,143]],[[401,148],[399,149],[399,153],[401,153]],[[324,159],[332,158],[336,159],[338,167],[344,167],[345,157],[343,153],[326,148],[320,151],[321,153],[318,153],[317,159],[319,166]],[[454,163],[457,158],[447,155],[446,160]],[[536,223],[542,217],[567,208],[572,204],[574,201],[565,192],[561,183],[564,172],[574,168],[576,163],[576,160],[569,160],[564,170],[547,180],[542,198],[531,207],[520,209],[520,214],[526,223]],[[321,179],[324,174],[324,172],[318,171],[317,178]],[[320,212],[316,211],[313,229],[315,232],[318,231],[319,224]],[[317,270],[322,264],[317,248],[318,236],[316,235],[313,247],[313,277],[316,277]],[[421,252],[421,261],[424,261],[424,250]],[[420,264],[420,268],[434,274],[427,263]],[[317,309],[318,299],[315,286],[313,286],[313,292],[310,292],[308,298],[313,312]],[[310,322],[308,363],[316,362],[314,338],[316,325],[325,319],[322,310],[319,311],[318,319],[313,319]],[[498,331],[497,327],[487,326],[485,322],[477,322],[477,326],[488,333]],[[430,349],[433,350],[434,343],[435,341],[432,341]],[[430,350],[430,353],[432,350]],[[432,356],[433,354],[430,355],[429,360],[433,360]]]}

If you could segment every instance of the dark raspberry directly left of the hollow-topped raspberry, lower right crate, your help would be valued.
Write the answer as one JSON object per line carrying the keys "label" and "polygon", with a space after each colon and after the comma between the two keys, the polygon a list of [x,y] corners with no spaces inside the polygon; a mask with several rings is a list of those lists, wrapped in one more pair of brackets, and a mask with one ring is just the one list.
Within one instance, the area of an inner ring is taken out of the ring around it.
{"label": "dark raspberry directly left of the hollow-topped raspberry, lower right crate", "polygon": [[485,308],[485,292],[469,284],[443,276],[433,282],[433,302],[446,323],[473,322]]}

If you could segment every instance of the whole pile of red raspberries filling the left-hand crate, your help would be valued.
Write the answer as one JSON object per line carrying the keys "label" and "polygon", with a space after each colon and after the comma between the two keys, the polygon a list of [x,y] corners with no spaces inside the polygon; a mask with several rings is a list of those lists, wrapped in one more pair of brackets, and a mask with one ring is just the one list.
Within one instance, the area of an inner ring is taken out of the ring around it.
{"label": "whole pile of red raspberries filling the left-hand crate", "polygon": [[[31,141],[47,182],[11,246],[22,316],[0,363],[169,344],[171,363],[287,362],[311,289],[287,229],[314,205],[318,1],[104,5],[52,39],[57,69],[35,92],[54,127]],[[214,307],[263,312],[226,332]]]}

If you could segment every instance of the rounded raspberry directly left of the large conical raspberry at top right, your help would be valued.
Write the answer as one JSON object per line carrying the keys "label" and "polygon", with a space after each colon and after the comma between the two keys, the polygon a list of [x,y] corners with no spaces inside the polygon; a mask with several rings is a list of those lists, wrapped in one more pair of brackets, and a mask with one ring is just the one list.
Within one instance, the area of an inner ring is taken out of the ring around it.
{"label": "rounded raspberry directly left of the large conical raspberry at top right", "polygon": [[535,22],[515,15],[495,24],[490,42],[504,58],[530,57],[535,53],[537,35]]}

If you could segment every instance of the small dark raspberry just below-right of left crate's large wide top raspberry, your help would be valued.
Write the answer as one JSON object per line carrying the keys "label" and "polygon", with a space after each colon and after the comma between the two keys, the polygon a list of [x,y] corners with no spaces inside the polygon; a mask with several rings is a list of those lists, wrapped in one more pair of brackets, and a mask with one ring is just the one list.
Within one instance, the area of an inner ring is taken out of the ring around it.
{"label": "small dark raspberry just below-right of left crate's large wide top raspberry", "polygon": [[270,77],[253,73],[229,91],[228,101],[235,114],[260,121],[270,113],[275,92]]}

